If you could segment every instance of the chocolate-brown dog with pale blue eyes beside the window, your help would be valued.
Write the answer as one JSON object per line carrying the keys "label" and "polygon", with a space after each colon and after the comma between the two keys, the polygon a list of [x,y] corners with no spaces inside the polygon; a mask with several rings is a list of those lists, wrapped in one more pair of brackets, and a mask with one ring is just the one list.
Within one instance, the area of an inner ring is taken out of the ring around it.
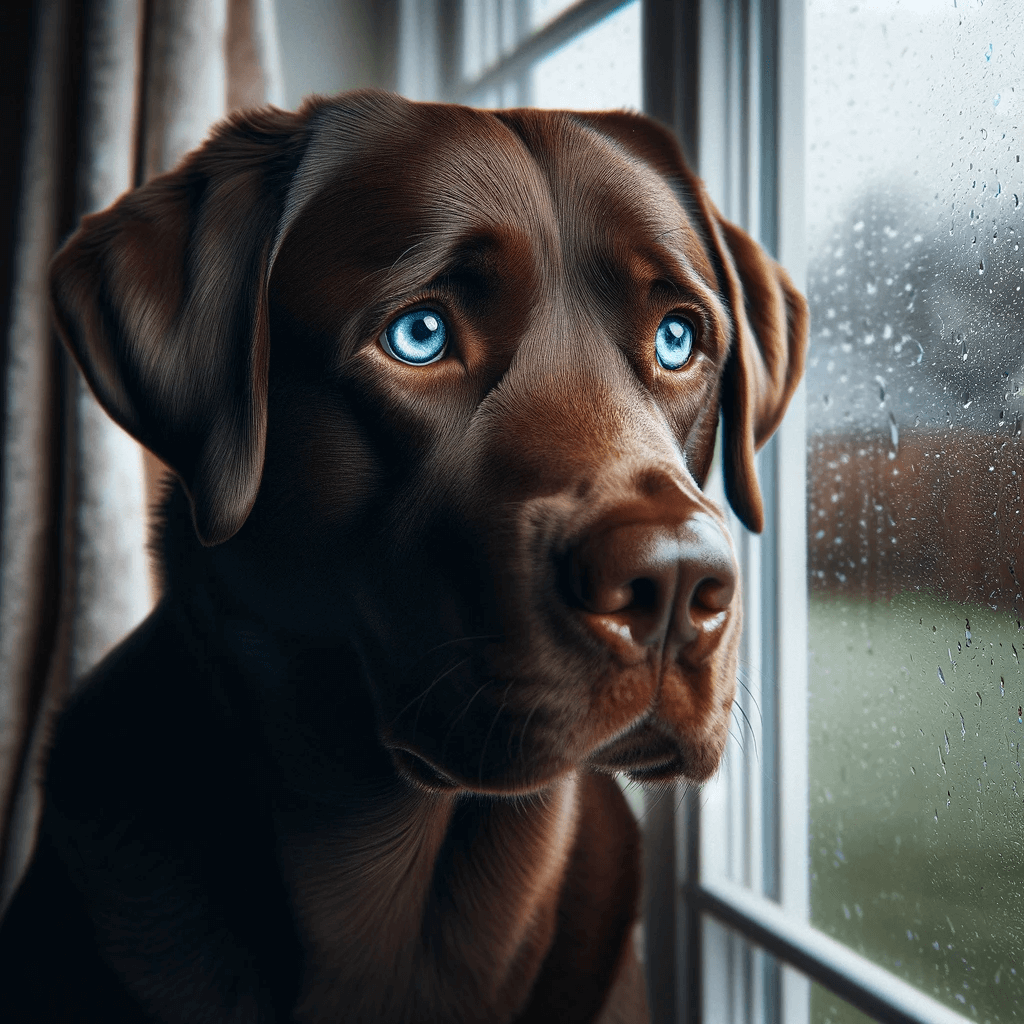
{"label": "chocolate-brown dog with pale blue eyes beside the window", "polygon": [[760,528],[784,272],[640,116],[362,92],[221,125],[53,296],[179,484],[163,600],[56,731],[4,1019],[644,1019],[611,773],[718,765],[701,486],[721,414]]}

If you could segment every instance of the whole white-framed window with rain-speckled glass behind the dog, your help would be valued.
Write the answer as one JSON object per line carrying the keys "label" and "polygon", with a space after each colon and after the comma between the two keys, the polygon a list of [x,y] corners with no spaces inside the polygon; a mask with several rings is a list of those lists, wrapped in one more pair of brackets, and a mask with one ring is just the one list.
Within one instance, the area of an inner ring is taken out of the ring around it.
{"label": "whole white-framed window with rain-speckled glass behind the dog", "polygon": [[655,1021],[1024,1016],[1016,7],[402,2],[408,94],[645,109],[811,303],[734,741],[644,812]]}

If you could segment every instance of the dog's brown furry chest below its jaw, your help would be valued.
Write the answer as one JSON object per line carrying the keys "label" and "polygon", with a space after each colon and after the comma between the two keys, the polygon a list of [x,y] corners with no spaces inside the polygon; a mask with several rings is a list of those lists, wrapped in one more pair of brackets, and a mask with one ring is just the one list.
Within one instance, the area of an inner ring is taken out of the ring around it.
{"label": "dog's brown furry chest below its jaw", "polygon": [[279,820],[305,951],[297,1021],[507,1019],[554,934],[574,780],[530,828],[513,805],[495,810],[469,845],[451,799],[344,825]]}

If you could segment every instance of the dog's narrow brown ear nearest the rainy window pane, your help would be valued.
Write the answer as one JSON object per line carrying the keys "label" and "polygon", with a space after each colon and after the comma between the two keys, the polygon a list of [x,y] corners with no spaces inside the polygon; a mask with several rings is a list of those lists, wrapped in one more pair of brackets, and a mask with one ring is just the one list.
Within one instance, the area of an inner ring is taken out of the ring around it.
{"label": "dog's narrow brown ear nearest the rainy window pane", "polygon": [[668,129],[638,114],[575,117],[657,171],[708,248],[733,321],[721,390],[725,489],[743,524],[760,534],[764,508],[754,455],[778,426],[803,375],[807,302],[785,270],[715,209]]}

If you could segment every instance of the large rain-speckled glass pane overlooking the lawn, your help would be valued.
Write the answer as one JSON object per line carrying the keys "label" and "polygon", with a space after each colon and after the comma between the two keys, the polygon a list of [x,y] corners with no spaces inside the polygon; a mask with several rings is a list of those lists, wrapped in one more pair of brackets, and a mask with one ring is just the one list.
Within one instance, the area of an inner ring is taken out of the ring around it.
{"label": "large rain-speckled glass pane overlooking the lawn", "polygon": [[1020,15],[807,4],[811,914],[992,1022],[1024,1005]]}

